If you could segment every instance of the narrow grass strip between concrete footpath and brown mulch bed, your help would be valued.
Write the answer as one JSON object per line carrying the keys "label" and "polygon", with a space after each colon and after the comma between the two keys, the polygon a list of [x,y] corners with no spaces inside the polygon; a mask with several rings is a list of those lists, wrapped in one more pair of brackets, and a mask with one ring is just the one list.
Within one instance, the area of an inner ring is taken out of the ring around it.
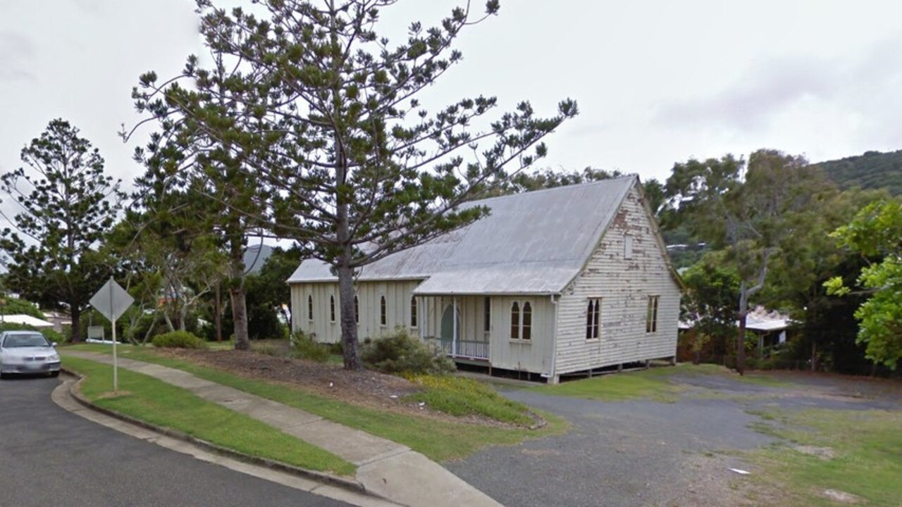
{"label": "narrow grass strip between concrete footpath and brown mulch bed", "polygon": [[[109,346],[78,345],[63,347],[60,349],[60,354],[65,355],[67,348],[110,353]],[[542,429],[493,428],[463,422],[411,417],[310,394],[293,385],[248,379],[188,361],[163,357],[154,354],[153,349],[149,347],[121,346],[118,350],[123,357],[177,368],[211,382],[228,385],[272,401],[279,401],[345,426],[388,438],[439,462],[469,456],[485,446],[512,445],[527,438],[560,434],[565,432],[568,427],[564,419],[545,413],[540,415],[548,420],[548,425]],[[69,365],[71,360],[72,358],[64,357],[64,364]]]}

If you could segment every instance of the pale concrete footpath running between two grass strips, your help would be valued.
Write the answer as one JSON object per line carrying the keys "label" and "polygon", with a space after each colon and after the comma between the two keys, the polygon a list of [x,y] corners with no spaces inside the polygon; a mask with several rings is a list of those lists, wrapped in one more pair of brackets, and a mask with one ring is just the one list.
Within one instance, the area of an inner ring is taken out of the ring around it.
{"label": "pale concrete footpath running between two grass strips", "polygon": [[[65,354],[97,363],[113,363],[113,357],[105,354],[80,351],[67,351]],[[410,507],[501,505],[428,457],[391,440],[174,368],[125,358],[119,358],[118,364],[120,368],[187,389],[204,400],[258,419],[344,458],[357,466],[355,479],[366,492],[391,502]]]}

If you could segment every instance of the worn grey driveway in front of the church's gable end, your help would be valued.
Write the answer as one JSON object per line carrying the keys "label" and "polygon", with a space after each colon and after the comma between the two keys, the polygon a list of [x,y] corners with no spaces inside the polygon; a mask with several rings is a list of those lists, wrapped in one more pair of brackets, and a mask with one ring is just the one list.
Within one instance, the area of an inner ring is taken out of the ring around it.
{"label": "worn grey driveway in front of the church's gable end", "polygon": [[[628,374],[628,373],[627,373]],[[739,383],[720,375],[673,377],[686,392],[674,403],[600,402],[506,391],[513,400],[573,424],[559,437],[490,447],[446,467],[511,506],[741,505],[731,486],[745,469],[729,451],[765,446],[749,412],[774,407],[902,410],[902,400],[872,399],[867,383],[805,375],[785,389]],[[807,383],[806,383],[807,382]],[[865,395],[867,394],[867,395]]]}

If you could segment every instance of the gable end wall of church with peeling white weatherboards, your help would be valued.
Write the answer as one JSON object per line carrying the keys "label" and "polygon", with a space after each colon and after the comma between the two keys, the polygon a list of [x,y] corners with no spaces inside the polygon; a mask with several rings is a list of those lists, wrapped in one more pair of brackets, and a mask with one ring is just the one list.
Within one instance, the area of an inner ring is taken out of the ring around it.
{"label": "gable end wall of church with peeling white weatherboards", "polygon": [[[558,303],[557,374],[676,355],[680,290],[652,227],[638,189],[631,189],[584,271]],[[630,259],[624,258],[627,235]],[[649,296],[659,296],[654,333],[646,333]],[[593,298],[602,300],[600,337],[586,340]]]}

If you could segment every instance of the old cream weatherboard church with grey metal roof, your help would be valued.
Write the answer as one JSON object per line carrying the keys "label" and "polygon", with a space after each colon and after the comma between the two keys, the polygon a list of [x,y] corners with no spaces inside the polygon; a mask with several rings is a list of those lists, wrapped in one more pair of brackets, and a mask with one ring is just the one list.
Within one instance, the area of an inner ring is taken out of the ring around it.
{"label": "old cream weatherboard church with grey metal roof", "polygon": [[[358,336],[407,328],[458,362],[561,375],[676,357],[680,284],[638,177],[488,198],[491,214],[365,266]],[[306,260],[293,330],[341,339],[338,284]]]}

